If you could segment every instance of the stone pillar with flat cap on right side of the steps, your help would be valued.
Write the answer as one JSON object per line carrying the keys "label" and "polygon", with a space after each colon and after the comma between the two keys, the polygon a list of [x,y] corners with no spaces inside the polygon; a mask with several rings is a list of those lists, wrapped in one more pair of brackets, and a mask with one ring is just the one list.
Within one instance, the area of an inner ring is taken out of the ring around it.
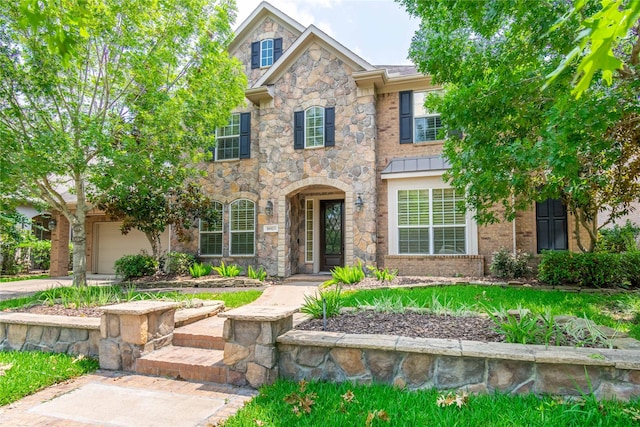
{"label": "stone pillar with flat cap on right side of the steps", "polygon": [[223,338],[228,381],[258,388],[278,378],[276,339],[293,328],[292,307],[247,305],[220,313],[226,317]]}

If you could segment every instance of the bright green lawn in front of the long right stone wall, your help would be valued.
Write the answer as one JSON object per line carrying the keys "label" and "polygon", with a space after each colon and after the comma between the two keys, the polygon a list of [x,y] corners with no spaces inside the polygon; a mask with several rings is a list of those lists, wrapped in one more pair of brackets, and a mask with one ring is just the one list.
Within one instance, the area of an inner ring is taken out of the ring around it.
{"label": "bright green lawn in front of the long right stone wall", "polygon": [[587,396],[577,402],[563,402],[552,397],[495,394],[470,395],[462,407],[438,406],[438,398],[444,394],[434,389],[403,391],[351,383],[312,382],[301,388],[299,383],[280,380],[261,388],[258,396],[223,425],[633,426],[639,423],[633,418],[640,417],[637,400],[623,404],[598,402]]}

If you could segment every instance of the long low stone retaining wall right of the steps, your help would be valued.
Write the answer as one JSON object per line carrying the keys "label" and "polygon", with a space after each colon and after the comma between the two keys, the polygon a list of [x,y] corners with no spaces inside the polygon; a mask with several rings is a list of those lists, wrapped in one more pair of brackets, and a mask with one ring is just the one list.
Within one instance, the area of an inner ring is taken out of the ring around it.
{"label": "long low stone retaining wall right of the steps", "polygon": [[598,398],[640,397],[640,352],[291,330],[277,339],[290,380],[378,382]]}

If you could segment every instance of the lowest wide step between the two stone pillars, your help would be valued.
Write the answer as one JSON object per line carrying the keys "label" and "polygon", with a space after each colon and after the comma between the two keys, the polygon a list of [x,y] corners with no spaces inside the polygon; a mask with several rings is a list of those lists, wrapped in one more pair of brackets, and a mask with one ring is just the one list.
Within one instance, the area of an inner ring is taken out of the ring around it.
{"label": "lowest wide step between the two stone pillars", "polygon": [[167,346],[136,361],[136,372],[188,381],[227,383],[223,352],[191,347]]}

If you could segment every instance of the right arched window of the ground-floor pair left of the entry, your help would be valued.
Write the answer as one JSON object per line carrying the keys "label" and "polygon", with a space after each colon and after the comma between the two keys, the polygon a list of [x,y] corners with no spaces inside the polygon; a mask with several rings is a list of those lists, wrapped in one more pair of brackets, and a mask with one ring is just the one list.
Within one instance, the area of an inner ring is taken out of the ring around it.
{"label": "right arched window of the ground-floor pair left of the entry", "polygon": [[230,255],[254,255],[256,207],[251,200],[236,200],[229,207]]}

